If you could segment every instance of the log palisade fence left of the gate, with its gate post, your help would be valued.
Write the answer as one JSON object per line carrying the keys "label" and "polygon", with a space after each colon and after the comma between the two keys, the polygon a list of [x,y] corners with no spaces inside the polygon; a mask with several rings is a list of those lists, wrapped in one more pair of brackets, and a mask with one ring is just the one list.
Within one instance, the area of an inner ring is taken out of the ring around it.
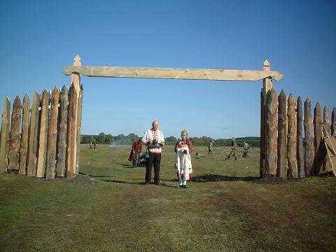
{"label": "log palisade fence left of the gate, with its gate post", "polygon": [[[76,58],[75,58],[76,60]],[[78,64],[76,60],[75,64]],[[78,174],[83,85],[73,78],[70,89],[55,87],[17,96],[10,117],[10,100],[3,104],[0,137],[0,172],[16,171],[27,176],[73,179]],[[79,87],[79,85],[78,85]],[[77,91],[78,90],[78,91]],[[20,130],[21,127],[21,130]],[[78,146],[78,148],[77,148]]]}

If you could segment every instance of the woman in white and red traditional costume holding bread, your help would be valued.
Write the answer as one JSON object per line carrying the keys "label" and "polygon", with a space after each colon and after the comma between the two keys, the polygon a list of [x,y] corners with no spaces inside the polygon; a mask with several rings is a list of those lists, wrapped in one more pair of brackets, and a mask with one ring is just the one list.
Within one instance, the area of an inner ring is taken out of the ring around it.
{"label": "woman in white and red traditional costume holding bread", "polygon": [[188,132],[182,130],[181,140],[175,144],[176,173],[179,177],[178,188],[187,188],[187,181],[193,179],[193,167],[191,166],[190,154],[193,153],[193,144],[188,139]]}

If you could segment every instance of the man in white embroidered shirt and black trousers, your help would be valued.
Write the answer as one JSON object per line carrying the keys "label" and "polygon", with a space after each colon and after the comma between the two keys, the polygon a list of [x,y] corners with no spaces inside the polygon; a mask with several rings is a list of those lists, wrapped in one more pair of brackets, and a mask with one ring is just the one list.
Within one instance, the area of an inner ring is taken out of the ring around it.
{"label": "man in white embroidered shirt and black trousers", "polygon": [[146,181],[145,184],[151,183],[152,167],[154,166],[154,183],[160,186],[160,162],[161,148],[165,145],[165,137],[158,130],[159,123],[153,120],[151,130],[146,130],[142,142],[147,146],[149,158],[146,162]]}

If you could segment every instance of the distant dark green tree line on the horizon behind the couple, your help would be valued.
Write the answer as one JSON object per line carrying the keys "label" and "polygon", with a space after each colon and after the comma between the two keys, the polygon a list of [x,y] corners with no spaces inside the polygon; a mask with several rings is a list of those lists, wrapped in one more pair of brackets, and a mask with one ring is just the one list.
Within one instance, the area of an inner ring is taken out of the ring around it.
{"label": "distant dark green tree line on the horizon behind the couple", "polygon": [[[105,134],[104,132],[99,135],[86,135],[80,136],[80,144],[90,144],[90,141],[95,144],[110,144],[110,145],[132,145],[134,141],[137,141],[139,136],[134,133],[130,133],[127,136],[124,134],[118,134],[118,136],[112,136],[111,134]],[[214,146],[231,146],[231,139],[212,139],[211,137],[190,137],[190,141],[194,146],[208,146],[210,141],[214,141]],[[176,137],[166,137],[165,143],[167,145],[175,145],[178,139]],[[260,147],[260,137],[237,137],[237,146],[243,146],[246,141],[251,147]]]}

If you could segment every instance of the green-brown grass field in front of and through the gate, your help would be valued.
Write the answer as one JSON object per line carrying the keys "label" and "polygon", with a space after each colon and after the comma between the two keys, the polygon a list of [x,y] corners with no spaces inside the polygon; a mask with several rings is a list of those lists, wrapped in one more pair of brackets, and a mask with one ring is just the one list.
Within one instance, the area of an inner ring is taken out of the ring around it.
{"label": "green-brown grass field in front of and through the gate", "polygon": [[162,186],[144,186],[130,146],[81,146],[73,180],[0,174],[0,251],[336,251],[335,177],[258,179],[258,148],[196,151],[188,189],[172,146]]}

